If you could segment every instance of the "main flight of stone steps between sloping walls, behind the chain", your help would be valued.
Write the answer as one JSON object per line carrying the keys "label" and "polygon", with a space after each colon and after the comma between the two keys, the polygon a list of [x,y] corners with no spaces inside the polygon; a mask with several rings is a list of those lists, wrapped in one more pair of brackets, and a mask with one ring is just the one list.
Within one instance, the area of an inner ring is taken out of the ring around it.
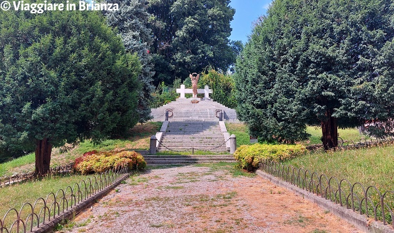
{"label": "main flight of stone steps between sloping walls, behind the chain", "polygon": [[157,152],[203,150],[227,153],[218,122],[168,122]]}

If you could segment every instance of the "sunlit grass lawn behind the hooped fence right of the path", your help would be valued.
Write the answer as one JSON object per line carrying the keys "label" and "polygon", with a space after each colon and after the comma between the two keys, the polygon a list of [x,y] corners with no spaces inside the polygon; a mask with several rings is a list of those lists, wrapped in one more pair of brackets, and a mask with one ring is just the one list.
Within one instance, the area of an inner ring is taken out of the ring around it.
{"label": "sunlit grass lawn behind the hooped fence right of the path", "polygon": [[315,151],[285,164],[348,179],[351,183],[360,182],[364,187],[374,185],[380,191],[394,191],[393,145],[328,153]]}

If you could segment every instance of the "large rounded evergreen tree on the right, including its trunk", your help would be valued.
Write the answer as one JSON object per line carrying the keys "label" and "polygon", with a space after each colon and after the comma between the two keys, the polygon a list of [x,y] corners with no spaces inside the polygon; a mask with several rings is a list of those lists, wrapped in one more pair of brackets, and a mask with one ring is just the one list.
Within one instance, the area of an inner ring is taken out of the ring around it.
{"label": "large rounded evergreen tree on the right, including its trunk", "polygon": [[394,116],[389,0],[275,0],[236,63],[239,118],[263,140],[305,139]]}

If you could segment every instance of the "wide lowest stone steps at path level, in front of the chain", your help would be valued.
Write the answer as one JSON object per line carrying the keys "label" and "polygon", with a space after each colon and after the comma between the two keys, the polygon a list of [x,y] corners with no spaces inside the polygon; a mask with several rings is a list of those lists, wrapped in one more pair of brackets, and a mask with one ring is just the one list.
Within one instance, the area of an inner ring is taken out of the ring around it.
{"label": "wide lowest stone steps at path level, in front of the chain", "polygon": [[232,155],[144,155],[148,165],[236,162]]}

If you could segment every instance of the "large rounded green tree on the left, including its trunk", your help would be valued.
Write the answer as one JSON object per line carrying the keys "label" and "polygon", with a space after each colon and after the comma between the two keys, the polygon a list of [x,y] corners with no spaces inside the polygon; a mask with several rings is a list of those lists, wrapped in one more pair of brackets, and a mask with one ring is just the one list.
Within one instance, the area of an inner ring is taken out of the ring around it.
{"label": "large rounded green tree on the left, including its trunk", "polygon": [[0,141],[33,146],[36,173],[52,145],[136,124],[141,67],[101,13],[3,11],[0,22]]}

